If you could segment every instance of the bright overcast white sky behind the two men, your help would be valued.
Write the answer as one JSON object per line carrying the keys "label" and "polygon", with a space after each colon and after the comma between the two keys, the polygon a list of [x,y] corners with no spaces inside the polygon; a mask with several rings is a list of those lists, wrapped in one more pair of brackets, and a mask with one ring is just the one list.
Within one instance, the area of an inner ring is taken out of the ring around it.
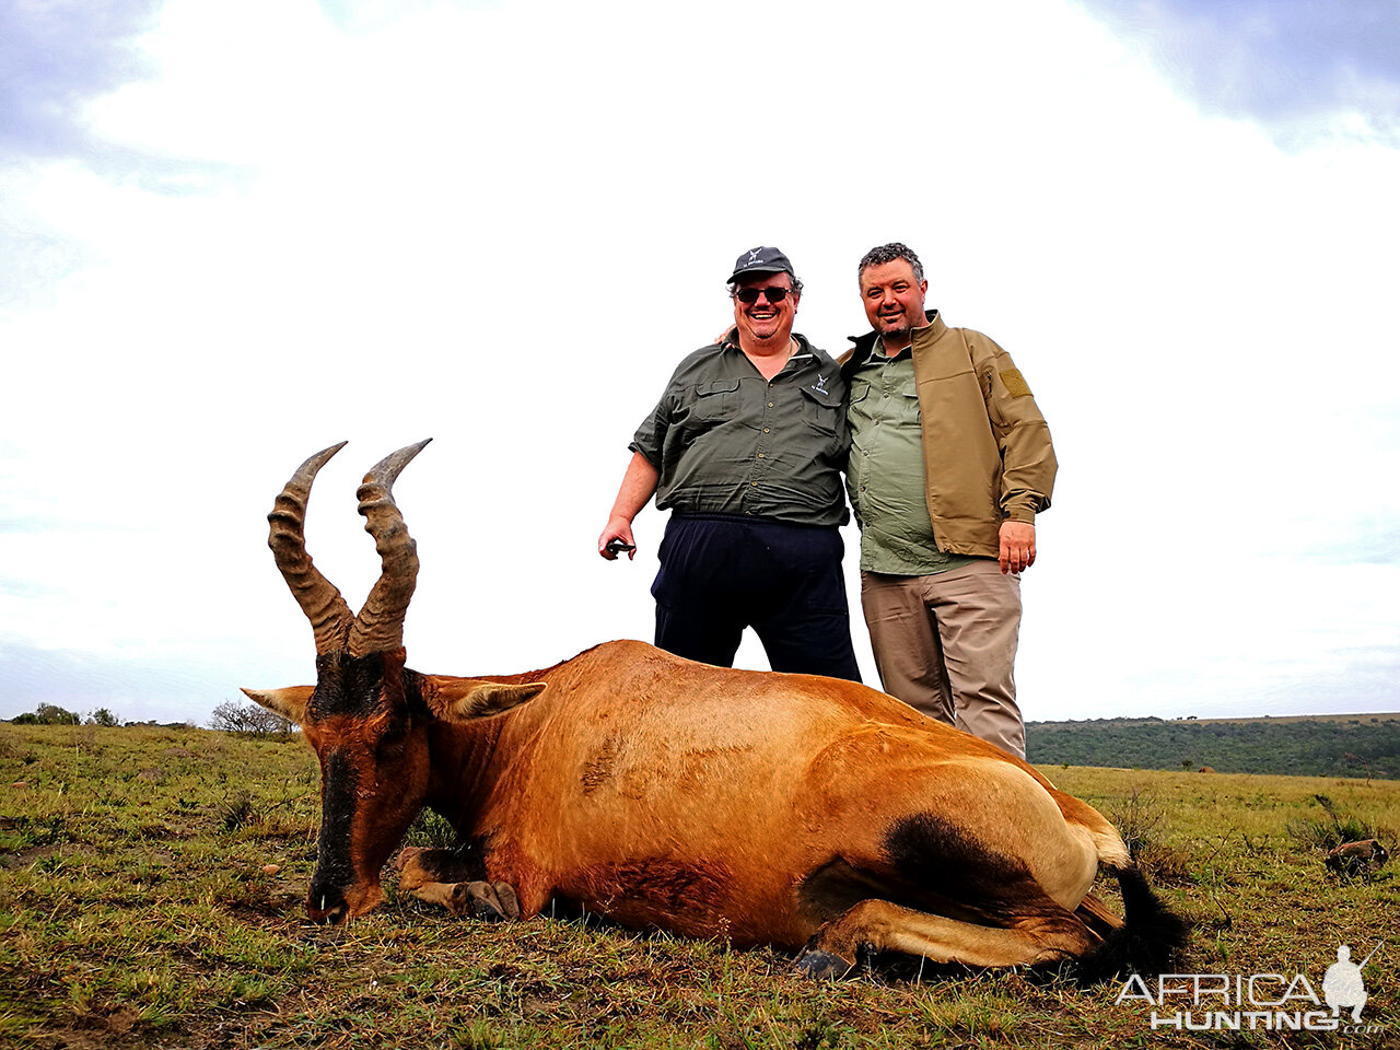
{"label": "bright overcast white sky behind the two men", "polygon": [[311,682],[266,514],[342,440],[358,608],[435,438],[413,666],[650,638],[664,515],[595,540],[735,256],[834,354],[892,239],[1054,434],[1029,720],[1397,710],[1396,186],[1390,0],[0,0],[0,717]]}

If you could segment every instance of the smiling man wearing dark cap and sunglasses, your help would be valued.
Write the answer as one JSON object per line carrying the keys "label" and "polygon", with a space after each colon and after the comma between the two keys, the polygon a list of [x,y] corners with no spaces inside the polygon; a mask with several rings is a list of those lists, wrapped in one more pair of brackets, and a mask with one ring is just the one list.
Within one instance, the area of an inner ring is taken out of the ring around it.
{"label": "smiling man wearing dark cap and sunglasses", "polygon": [[774,671],[858,682],[837,531],[846,385],[792,332],[801,294],[777,248],[739,256],[735,328],[680,361],[637,430],[598,553],[636,552],[631,521],[655,494],[671,510],[651,585],[658,647],[732,666],[753,627]]}

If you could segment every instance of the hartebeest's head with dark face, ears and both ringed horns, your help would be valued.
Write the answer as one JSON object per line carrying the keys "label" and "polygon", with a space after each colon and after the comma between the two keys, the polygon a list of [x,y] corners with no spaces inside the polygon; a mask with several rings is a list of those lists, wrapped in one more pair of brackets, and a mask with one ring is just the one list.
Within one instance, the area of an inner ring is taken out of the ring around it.
{"label": "hartebeest's head with dark face, ears and both ringed horns", "polygon": [[360,514],[382,573],[356,616],[307,554],[311,484],[344,442],[307,459],[281,490],[267,545],[316,638],[316,685],[244,692],[298,722],[321,760],[321,839],[307,911],[343,923],[379,903],[379,871],[423,808],[428,727],[512,707],[543,683],[442,679],[403,666],[403,617],[417,582],[417,546],[393,503],[393,482],[427,441],[377,463],[360,486]]}

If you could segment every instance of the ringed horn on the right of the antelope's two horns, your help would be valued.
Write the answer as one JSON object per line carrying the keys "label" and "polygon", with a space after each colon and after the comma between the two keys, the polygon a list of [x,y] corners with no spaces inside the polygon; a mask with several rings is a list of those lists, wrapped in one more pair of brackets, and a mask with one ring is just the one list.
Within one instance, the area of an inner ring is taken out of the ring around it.
{"label": "ringed horn on the right of the antelope's two horns", "polygon": [[356,493],[360,497],[360,514],[364,515],[364,531],[374,536],[384,571],[350,627],[351,657],[388,652],[403,645],[403,615],[409,610],[409,599],[413,598],[419,580],[419,549],[393,503],[393,480],[431,440],[400,448],[381,459],[364,476],[364,483]]}

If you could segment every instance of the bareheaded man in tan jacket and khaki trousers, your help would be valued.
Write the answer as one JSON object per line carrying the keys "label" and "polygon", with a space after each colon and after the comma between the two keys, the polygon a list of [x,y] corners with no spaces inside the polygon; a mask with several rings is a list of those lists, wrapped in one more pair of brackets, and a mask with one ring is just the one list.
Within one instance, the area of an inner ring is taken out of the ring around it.
{"label": "bareheaded man in tan jacket and khaki trousers", "polygon": [[840,358],[847,489],[861,524],[861,605],[885,692],[1025,757],[1012,668],[1022,570],[1056,458],[1030,388],[1000,346],[924,309],[902,244],[860,266],[874,330]]}

